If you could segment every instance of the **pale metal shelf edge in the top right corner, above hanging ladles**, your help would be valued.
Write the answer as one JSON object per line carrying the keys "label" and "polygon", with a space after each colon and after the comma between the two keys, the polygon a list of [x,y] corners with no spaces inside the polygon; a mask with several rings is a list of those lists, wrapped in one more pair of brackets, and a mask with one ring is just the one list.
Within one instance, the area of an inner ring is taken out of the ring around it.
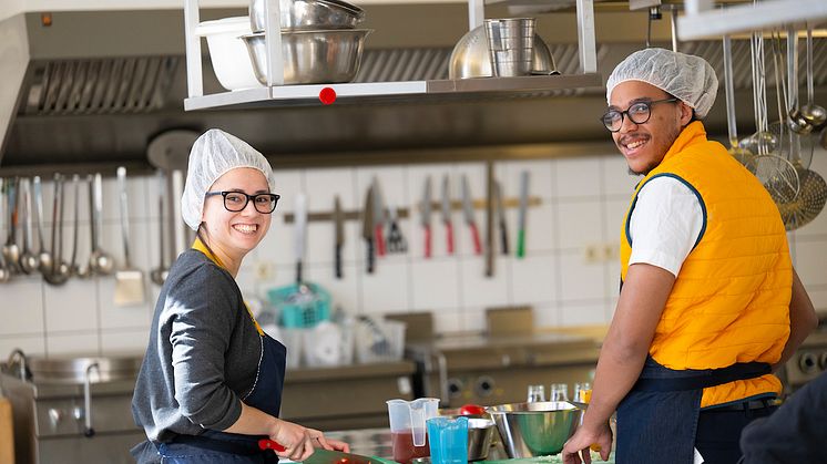
{"label": "pale metal shelf edge in the top right corner, above hanging ladles", "polygon": [[698,40],[724,34],[772,30],[789,24],[811,25],[827,19],[825,0],[766,0],[726,9],[701,10],[701,0],[686,1],[686,14],[677,19],[678,39]]}

